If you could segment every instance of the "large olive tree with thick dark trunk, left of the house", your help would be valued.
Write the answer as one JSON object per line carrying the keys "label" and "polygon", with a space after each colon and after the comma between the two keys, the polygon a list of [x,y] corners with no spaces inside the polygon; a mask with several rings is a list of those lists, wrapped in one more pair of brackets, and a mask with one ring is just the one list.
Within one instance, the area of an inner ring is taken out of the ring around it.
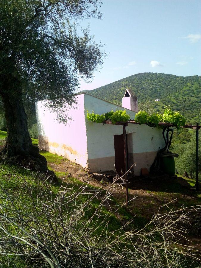
{"label": "large olive tree with thick dark trunk, left of the house", "polygon": [[[32,163],[46,170],[46,159],[32,145],[24,105],[45,99],[64,120],[72,105],[78,78],[91,79],[105,52],[85,18],[101,18],[100,0],[1,0],[0,95],[7,121],[7,142],[1,159]],[[62,111],[62,113],[61,113]]]}

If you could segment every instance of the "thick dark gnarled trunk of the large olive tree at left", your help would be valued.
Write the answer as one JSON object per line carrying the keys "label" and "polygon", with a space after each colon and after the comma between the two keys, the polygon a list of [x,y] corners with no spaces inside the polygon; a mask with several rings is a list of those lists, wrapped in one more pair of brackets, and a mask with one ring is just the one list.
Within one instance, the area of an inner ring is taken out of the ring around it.
{"label": "thick dark gnarled trunk of the large olive tree at left", "polygon": [[[9,92],[9,91],[8,91]],[[13,94],[1,92],[7,121],[7,142],[1,151],[6,163],[17,163],[32,170],[47,172],[47,161],[32,145],[20,91]]]}

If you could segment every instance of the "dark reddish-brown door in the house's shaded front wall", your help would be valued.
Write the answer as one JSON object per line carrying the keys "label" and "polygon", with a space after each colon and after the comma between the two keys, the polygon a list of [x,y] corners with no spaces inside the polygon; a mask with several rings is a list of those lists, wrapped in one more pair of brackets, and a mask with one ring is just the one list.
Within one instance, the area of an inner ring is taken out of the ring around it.
{"label": "dark reddish-brown door in the house's shaded front wall", "polygon": [[115,169],[118,175],[122,176],[122,174],[125,173],[123,135],[114,135],[114,153],[115,153]]}

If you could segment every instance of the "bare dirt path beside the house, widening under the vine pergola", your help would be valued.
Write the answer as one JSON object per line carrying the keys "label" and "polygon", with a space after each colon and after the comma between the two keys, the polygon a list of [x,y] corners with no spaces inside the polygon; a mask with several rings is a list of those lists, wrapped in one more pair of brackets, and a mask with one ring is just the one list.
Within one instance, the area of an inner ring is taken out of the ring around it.
{"label": "bare dirt path beside the house, widening under the vine pergola", "polygon": [[[70,161],[63,160],[60,164],[48,162],[48,164],[59,172],[71,173],[72,177],[77,178],[82,183],[88,181],[91,186],[99,187],[104,190],[111,188],[111,183],[100,182],[90,178],[83,168]],[[125,187],[119,184],[114,186],[113,196],[116,201],[123,205],[125,203]],[[201,199],[195,196],[195,191],[183,178],[170,178],[168,176],[149,176],[148,178],[136,178],[129,187],[129,204],[127,210],[137,215],[139,220],[150,219],[158,209],[171,202],[170,207],[180,208],[182,205],[199,205]],[[167,209],[163,207],[162,211]]]}

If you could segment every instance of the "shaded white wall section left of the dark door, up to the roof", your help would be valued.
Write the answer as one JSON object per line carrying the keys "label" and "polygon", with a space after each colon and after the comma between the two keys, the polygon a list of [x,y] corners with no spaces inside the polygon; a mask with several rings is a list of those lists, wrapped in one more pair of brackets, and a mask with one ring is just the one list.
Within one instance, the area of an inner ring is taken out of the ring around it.
{"label": "shaded white wall section left of the dark door, up to the roof", "polygon": [[[102,99],[85,94],[85,116],[87,110],[91,113],[103,114],[111,110],[124,110],[123,107],[106,102]],[[125,109],[130,114],[131,119],[135,118],[135,112]],[[97,124],[86,119],[87,129],[87,148],[88,161],[97,159],[99,161],[99,170],[92,169],[91,171],[107,171],[114,170],[114,135],[123,134],[122,126]],[[127,133],[133,132],[133,127],[126,127]],[[108,158],[108,161],[104,158]],[[89,166],[90,167],[90,166]]]}

